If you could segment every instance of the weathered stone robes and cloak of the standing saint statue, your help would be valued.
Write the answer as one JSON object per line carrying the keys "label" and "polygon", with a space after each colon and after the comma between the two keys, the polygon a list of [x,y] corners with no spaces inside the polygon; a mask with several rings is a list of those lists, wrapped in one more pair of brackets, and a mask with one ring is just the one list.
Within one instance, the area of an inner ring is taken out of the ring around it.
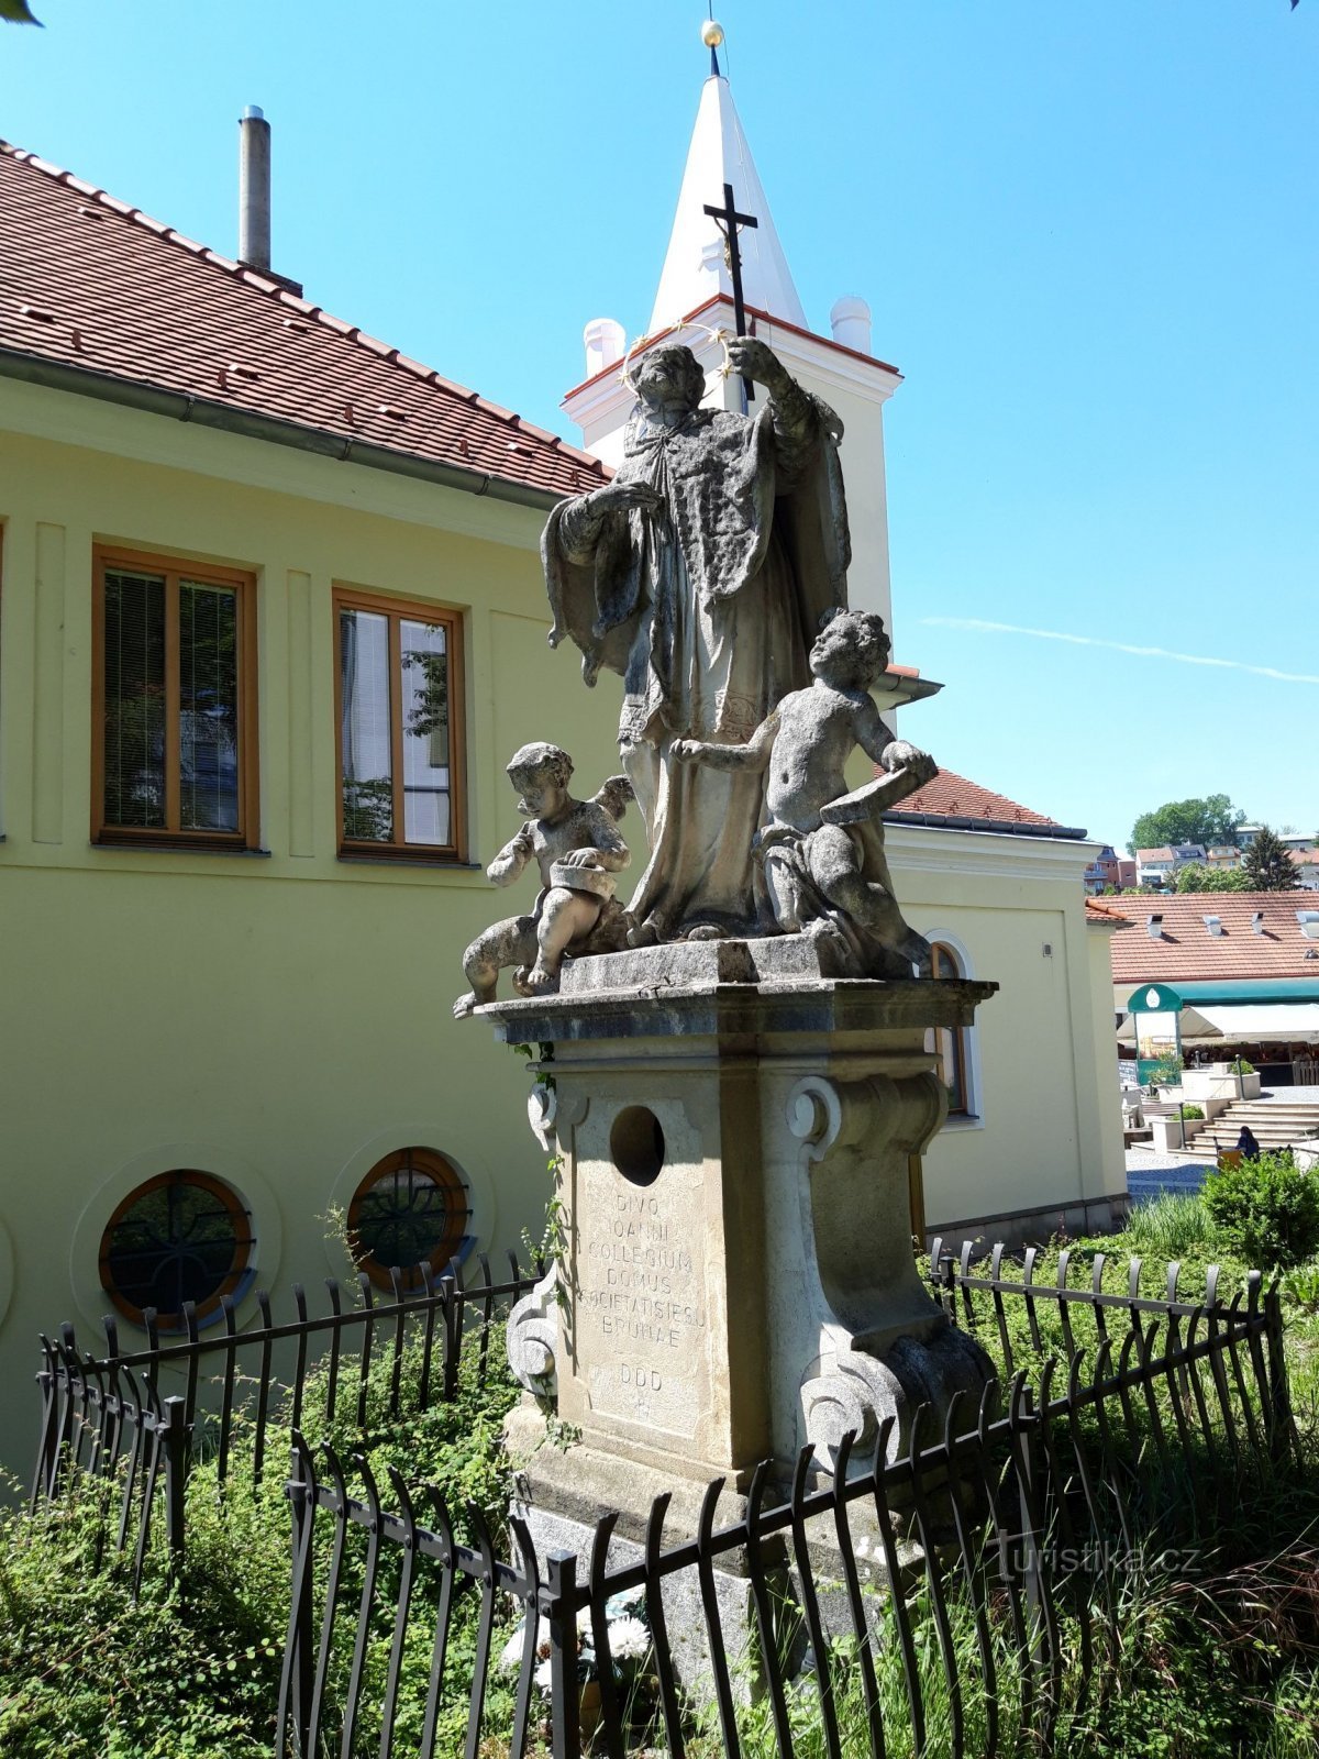
{"label": "weathered stone robes and cloak of the standing saint statue", "polygon": [[563,501],[542,540],[554,628],[582,675],[623,674],[623,765],[651,860],[631,909],[661,941],[698,923],[756,932],[751,843],[765,776],[677,763],[674,739],[746,742],[790,691],[825,612],[848,602],[849,540],[834,412],[797,383],[754,415],[695,410],[628,426],[617,482],[663,508]]}

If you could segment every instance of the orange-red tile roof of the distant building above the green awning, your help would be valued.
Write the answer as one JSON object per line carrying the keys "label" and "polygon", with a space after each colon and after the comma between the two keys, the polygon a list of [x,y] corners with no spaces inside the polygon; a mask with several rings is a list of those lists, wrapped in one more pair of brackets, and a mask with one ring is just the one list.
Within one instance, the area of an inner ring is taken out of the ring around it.
{"label": "orange-red tile roof of the distant building above the green awning", "polygon": [[[1162,916],[1162,936],[1120,934],[1113,941],[1115,983],[1192,983],[1231,978],[1312,978],[1319,962],[1307,950],[1296,922],[1298,909],[1312,909],[1312,892],[1168,892],[1122,899],[1122,908],[1145,927]],[[1263,934],[1250,922],[1259,911]],[[1210,934],[1205,916],[1222,922],[1222,934]]]}

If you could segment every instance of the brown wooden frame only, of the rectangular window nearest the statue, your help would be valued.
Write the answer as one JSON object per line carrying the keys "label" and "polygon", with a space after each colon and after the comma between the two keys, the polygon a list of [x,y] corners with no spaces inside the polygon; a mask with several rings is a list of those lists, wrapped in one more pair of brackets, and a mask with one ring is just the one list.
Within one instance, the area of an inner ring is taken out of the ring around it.
{"label": "brown wooden frame only, of the rectangular window nearest the statue", "polygon": [[[332,654],[334,654],[334,827],[339,860],[427,862],[440,867],[459,867],[468,860],[468,746],[466,746],[466,663],[463,612],[427,598],[401,598],[394,593],[371,593],[355,586],[334,584]],[[339,647],[339,614],[366,610],[389,621],[389,749],[392,783],[392,818],[396,827],[406,825],[403,802],[403,704],[396,702],[396,679],[403,677],[404,621],[429,623],[445,630],[448,654],[448,825],[452,843],[403,843],[390,839],[376,843],[368,837],[343,834],[343,653]]]}

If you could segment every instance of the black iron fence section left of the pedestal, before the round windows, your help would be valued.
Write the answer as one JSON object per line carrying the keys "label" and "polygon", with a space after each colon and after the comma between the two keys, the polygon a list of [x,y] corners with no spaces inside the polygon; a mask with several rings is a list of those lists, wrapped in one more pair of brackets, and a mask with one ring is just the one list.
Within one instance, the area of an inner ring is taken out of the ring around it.
{"label": "black iron fence section left of the pedestal, before the round windows", "polygon": [[148,1310],[146,1347],[135,1351],[120,1347],[113,1316],[104,1319],[104,1354],[83,1351],[70,1325],[55,1340],[42,1337],[32,1507],[60,1500],[81,1479],[98,1481],[102,1541],[114,1553],[132,1550],[135,1590],[157,1511],[171,1551],[183,1553],[185,1488],[199,1462],[215,1462],[222,1486],[239,1460],[260,1479],[271,1448],[283,1471],[311,1397],[325,1423],[350,1411],[366,1432],[371,1416],[452,1400],[464,1358],[484,1384],[492,1323],[543,1274],[542,1265],[522,1270],[514,1254],[508,1266],[508,1279],[496,1282],[482,1254],[463,1286],[455,1274],[436,1277],[420,1265],[420,1291],[404,1293],[396,1272],[385,1300],[366,1274],[350,1300],[331,1277],[329,1310],[318,1316],[295,1284],[294,1317],[280,1323],[262,1291],[257,1323],[243,1328],[230,1298],[215,1326],[200,1326],[185,1305],[181,1333],[162,1332]]}

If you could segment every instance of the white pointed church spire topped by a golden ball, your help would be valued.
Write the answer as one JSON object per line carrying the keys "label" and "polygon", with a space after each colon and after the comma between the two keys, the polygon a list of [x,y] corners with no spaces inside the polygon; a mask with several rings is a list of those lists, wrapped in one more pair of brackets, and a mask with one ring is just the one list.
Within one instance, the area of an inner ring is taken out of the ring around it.
{"label": "white pointed church spire topped by a golden ball", "polygon": [[[711,49],[711,63],[718,69],[718,46],[723,30],[712,21],[705,25],[702,40]],[[728,81],[712,72],[700,93],[696,127],[688,148],[688,169],[682,172],[682,190],[677,199],[674,229],[668,236],[660,290],[654,296],[649,334],[677,324],[689,311],[723,292],[732,299],[733,283],[725,262],[719,227],[705,213],[707,202],[723,202],[723,186],[733,186],[733,199],[742,213],[760,222],[754,230],[744,227],[742,296],[758,311],[807,329],[802,301],[797,297],[788,259],[779,245],[779,234],[770,218],[742,121],[728,90]]]}

